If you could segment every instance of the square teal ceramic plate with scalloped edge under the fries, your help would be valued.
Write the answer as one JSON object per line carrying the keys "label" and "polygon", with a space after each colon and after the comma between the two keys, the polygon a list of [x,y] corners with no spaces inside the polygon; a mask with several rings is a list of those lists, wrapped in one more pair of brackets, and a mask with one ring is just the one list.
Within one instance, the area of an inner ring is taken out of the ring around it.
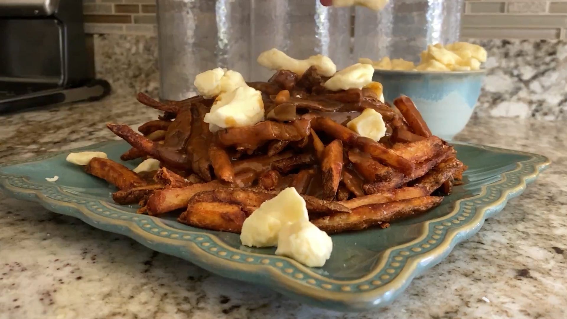
{"label": "square teal ceramic plate with scalloped edge under the fries", "polygon": [[[179,224],[176,216],[137,215],[136,207],[112,202],[114,189],[106,182],[65,162],[68,151],[1,166],[0,186],[7,195],[132,237],[150,249],[186,259],[215,274],[263,284],[317,307],[357,311],[391,303],[415,276],[476,233],[486,218],[501,211],[507,200],[521,194],[549,165],[547,158],[536,154],[454,145],[469,169],[465,183],[455,187],[441,206],[387,229],[333,236],[331,259],[321,268],[276,256],[274,249],[241,246],[237,234]],[[128,148],[123,141],[111,141],[81,150],[101,150],[119,160]],[[54,175],[59,176],[57,182],[45,180]]]}

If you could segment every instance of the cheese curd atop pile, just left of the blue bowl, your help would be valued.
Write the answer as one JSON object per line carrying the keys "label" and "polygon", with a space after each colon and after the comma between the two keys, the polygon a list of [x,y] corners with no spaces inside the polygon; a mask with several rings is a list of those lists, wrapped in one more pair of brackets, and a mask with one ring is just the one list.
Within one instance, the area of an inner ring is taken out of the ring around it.
{"label": "cheese curd atop pile, just left of the blue bowl", "polygon": [[335,73],[323,86],[331,91],[362,89],[372,82],[373,75],[372,65],[357,63]]}

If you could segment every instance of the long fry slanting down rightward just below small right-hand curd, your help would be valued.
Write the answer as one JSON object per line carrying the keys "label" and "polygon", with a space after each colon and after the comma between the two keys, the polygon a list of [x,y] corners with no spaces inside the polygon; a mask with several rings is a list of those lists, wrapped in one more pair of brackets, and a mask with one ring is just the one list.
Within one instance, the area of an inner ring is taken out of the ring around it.
{"label": "long fry slanting down rightward just below small right-hand curd", "polygon": [[401,171],[403,174],[411,174],[414,165],[407,159],[397,155],[391,149],[387,149],[367,137],[359,136],[354,131],[336,123],[335,121],[326,117],[316,117],[311,120],[315,131],[321,130],[331,135],[332,137],[345,142],[348,145],[354,146],[362,152],[370,154],[374,159],[384,162],[387,165]]}

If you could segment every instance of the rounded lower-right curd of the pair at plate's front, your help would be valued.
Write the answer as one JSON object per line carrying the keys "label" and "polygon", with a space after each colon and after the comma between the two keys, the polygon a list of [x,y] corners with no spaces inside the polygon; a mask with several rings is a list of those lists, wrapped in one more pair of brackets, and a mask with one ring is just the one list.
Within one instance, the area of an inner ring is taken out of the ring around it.
{"label": "rounded lower-right curd of the pair at plate's front", "polygon": [[282,226],[276,255],[295,259],[308,267],[321,267],[331,257],[331,237],[308,220]]}

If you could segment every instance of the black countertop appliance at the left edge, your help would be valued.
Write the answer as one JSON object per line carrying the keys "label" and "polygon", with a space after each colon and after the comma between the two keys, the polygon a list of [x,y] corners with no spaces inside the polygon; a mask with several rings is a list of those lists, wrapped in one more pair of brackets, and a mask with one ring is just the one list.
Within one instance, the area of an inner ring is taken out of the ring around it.
{"label": "black countertop appliance at the left edge", "polygon": [[94,78],[82,9],[79,0],[0,0],[0,112],[109,93]]}

